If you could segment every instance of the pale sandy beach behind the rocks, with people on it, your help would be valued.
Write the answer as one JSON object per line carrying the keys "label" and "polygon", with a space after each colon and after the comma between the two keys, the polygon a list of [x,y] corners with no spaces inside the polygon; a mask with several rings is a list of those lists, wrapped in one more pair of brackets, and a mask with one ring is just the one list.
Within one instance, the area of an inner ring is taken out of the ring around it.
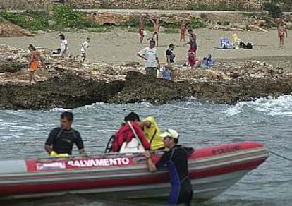
{"label": "pale sandy beach behind the rocks, with people on it", "polygon": [[[231,37],[236,33],[238,37],[246,42],[252,42],[254,49],[217,49],[219,47],[220,37]],[[152,33],[147,32],[146,37]],[[222,30],[209,30],[200,28],[195,30],[197,35],[197,56],[203,57],[206,54],[212,54],[214,59],[273,59],[269,57],[290,56],[292,59],[292,39],[289,37],[285,40],[284,48],[279,49],[276,30],[269,32],[232,32]],[[87,53],[87,61],[106,62],[111,64],[121,64],[129,61],[140,61],[136,56],[137,52],[147,46],[145,40],[139,44],[138,33],[127,32],[126,30],[114,29],[109,32],[65,32],[68,38],[68,47],[70,53],[74,56],[80,52],[80,44],[86,37],[91,38],[91,48]],[[172,43],[176,45],[176,61],[183,63],[188,51],[188,45],[179,41],[179,33],[161,33],[160,44],[158,47],[159,59],[165,62],[164,52],[167,46]],[[45,33],[35,37],[17,37],[17,38],[0,38],[0,44],[8,44],[14,47],[27,48],[28,44],[35,44],[37,47],[46,47],[56,49],[59,47],[58,32]]]}

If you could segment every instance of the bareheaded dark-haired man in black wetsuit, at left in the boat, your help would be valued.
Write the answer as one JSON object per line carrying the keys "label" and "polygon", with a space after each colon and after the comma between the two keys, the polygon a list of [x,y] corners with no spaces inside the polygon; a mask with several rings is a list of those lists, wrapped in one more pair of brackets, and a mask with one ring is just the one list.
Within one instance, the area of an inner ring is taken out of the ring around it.
{"label": "bareheaded dark-haired man in black wetsuit, at left in the boat", "polygon": [[79,153],[85,155],[83,140],[78,131],[71,128],[73,123],[72,112],[65,111],[61,114],[61,126],[54,128],[46,143],[44,149],[51,155],[52,154],[72,154],[74,143],[77,145]]}

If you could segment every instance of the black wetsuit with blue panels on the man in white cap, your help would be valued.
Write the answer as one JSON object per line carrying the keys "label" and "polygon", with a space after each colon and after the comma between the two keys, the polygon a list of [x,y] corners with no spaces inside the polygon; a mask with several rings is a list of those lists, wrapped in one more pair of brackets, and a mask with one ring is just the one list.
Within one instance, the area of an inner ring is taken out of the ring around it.
{"label": "black wetsuit with blue panels on the man in white cap", "polygon": [[193,188],[188,178],[188,154],[193,153],[193,151],[193,148],[176,145],[165,152],[156,164],[157,169],[163,169],[165,166],[169,169],[171,181],[169,205],[190,205],[193,198]]}

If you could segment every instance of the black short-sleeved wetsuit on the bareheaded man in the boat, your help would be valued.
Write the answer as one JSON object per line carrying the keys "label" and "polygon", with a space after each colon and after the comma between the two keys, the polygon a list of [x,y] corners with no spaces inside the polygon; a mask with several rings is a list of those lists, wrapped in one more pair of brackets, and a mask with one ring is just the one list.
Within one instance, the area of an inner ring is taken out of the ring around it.
{"label": "black short-sleeved wetsuit on the bareheaded man in the boat", "polygon": [[74,129],[66,131],[61,128],[54,128],[51,133],[49,133],[49,137],[45,144],[53,145],[52,150],[57,154],[71,155],[74,143],[79,150],[84,148],[83,140],[78,131],[75,131]]}

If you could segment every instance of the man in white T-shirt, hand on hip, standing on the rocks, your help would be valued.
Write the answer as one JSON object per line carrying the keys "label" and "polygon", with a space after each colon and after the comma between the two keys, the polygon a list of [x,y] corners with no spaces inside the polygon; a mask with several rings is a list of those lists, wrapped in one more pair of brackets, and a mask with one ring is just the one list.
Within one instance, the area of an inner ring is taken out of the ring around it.
{"label": "man in white T-shirt, hand on hip, standing on the rocks", "polygon": [[146,74],[157,78],[157,66],[159,67],[159,59],[157,49],[155,48],[155,41],[150,41],[150,46],[138,52],[137,56],[145,59]]}

